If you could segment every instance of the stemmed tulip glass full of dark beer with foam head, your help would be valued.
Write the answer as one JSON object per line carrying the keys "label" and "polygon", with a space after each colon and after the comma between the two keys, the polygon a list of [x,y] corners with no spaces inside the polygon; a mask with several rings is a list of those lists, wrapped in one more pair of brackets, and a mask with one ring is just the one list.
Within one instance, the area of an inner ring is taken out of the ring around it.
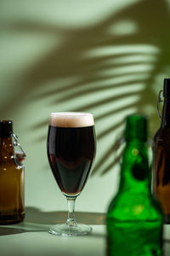
{"label": "stemmed tulip glass full of dark beer with foam head", "polygon": [[87,235],[92,228],[77,224],[74,207],[87,182],[95,156],[94,116],[92,113],[51,113],[48,126],[48,161],[54,178],[68,202],[68,219],[48,232],[56,236]]}

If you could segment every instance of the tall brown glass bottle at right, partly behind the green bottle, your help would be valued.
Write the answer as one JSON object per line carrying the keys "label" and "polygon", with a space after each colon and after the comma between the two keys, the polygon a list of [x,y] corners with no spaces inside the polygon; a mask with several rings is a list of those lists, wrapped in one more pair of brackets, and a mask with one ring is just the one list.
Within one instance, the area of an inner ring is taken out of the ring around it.
{"label": "tall brown glass bottle at right, partly behind the green bottle", "polygon": [[170,79],[164,79],[161,126],[153,138],[153,193],[170,224]]}

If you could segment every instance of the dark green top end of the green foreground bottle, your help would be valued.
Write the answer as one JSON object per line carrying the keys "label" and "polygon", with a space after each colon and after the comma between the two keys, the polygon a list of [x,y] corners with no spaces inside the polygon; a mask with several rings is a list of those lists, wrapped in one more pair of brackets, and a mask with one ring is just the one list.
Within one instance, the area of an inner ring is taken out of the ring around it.
{"label": "dark green top end of the green foreground bottle", "polygon": [[147,141],[147,119],[142,114],[132,114],[127,116],[125,139],[139,139],[143,142]]}

